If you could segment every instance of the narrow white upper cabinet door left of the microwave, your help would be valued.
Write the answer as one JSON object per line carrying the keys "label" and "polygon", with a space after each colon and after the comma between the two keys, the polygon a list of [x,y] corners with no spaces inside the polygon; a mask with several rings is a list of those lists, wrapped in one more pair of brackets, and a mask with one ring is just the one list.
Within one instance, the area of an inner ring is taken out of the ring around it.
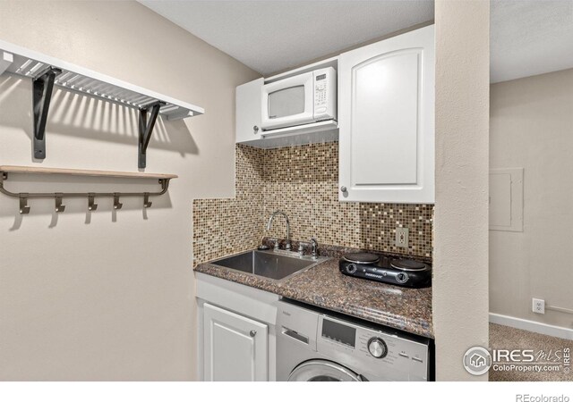
{"label": "narrow white upper cabinet door left of the microwave", "polygon": [[235,142],[261,139],[261,88],[260,78],[239,85],[235,91]]}

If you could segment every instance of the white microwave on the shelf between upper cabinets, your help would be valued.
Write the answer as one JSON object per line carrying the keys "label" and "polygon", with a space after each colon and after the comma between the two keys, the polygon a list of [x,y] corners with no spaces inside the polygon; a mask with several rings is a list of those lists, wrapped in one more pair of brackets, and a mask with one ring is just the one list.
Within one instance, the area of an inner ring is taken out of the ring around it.
{"label": "white microwave on the shelf between upper cabinets", "polygon": [[261,91],[262,130],[337,119],[337,71],[332,67],[271,82]]}

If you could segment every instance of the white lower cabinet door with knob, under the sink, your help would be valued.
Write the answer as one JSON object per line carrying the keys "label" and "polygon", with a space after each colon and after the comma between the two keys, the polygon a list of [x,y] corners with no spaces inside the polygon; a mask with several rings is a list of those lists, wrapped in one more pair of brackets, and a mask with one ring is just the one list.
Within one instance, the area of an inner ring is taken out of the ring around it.
{"label": "white lower cabinet door with knob, under the sink", "polygon": [[204,305],[205,381],[268,381],[267,325]]}

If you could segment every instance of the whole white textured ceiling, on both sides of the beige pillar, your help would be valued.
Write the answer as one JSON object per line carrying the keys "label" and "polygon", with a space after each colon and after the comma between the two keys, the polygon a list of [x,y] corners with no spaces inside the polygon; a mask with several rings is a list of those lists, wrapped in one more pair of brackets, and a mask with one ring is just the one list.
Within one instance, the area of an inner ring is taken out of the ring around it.
{"label": "whole white textured ceiling, on both sides of the beige pillar", "polygon": [[[433,19],[432,0],[139,0],[263,75]],[[492,82],[573,67],[573,0],[492,0]]]}

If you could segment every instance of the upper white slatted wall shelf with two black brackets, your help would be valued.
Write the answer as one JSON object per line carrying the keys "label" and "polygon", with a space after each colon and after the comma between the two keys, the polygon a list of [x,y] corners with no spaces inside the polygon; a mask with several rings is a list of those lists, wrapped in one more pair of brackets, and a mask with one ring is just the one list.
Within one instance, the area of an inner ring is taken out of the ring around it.
{"label": "upper white slatted wall shelf with two black brackets", "polygon": [[0,74],[4,71],[33,82],[33,143],[38,159],[46,158],[46,121],[54,86],[138,109],[140,168],[146,165],[146,151],[158,116],[174,121],[205,113],[200,106],[0,40]]}

